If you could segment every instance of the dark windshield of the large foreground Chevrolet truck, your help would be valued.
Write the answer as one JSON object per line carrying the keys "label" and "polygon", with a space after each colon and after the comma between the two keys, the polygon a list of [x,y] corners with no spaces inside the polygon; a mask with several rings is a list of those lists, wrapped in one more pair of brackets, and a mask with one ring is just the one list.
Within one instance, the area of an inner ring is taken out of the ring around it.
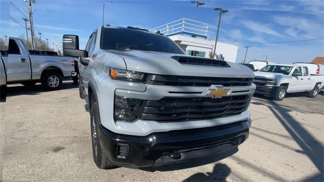
{"label": "dark windshield of the large foreground Chevrolet truck", "polygon": [[184,54],[170,38],[142,30],[123,28],[103,28],[102,48],[104,50],[142,50]]}

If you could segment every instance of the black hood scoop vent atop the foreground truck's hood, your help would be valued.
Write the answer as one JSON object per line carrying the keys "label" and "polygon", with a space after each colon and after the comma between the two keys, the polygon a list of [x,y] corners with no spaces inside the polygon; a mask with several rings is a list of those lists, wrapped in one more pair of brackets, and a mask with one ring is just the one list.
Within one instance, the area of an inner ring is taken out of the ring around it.
{"label": "black hood scoop vent atop the foreground truck's hood", "polygon": [[215,66],[215,67],[230,67],[226,61],[217,60],[217,59],[197,58],[197,57],[188,57],[188,56],[173,56],[171,58],[177,60],[180,64]]}

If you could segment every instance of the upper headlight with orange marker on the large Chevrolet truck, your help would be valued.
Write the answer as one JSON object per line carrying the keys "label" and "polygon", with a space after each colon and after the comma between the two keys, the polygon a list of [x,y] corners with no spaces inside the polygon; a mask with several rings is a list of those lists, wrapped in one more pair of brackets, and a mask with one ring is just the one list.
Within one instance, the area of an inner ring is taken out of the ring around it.
{"label": "upper headlight with orange marker on the large Chevrolet truck", "polygon": [[136,71],[110,68],[109,76],[112,79],[117,79],[117,80],[144,82],[146,80],[147,74],[136,72]]}

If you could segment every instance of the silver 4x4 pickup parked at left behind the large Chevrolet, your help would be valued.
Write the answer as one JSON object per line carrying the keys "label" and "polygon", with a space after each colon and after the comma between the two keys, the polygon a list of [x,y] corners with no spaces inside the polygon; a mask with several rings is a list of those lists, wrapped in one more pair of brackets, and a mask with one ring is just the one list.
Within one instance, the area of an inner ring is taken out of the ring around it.
{"label": "silver 4x4 pickup parked at left behind the large Chevrolet", "polygon": [[4,59],[6,84],[34,85],[41,82],[47,89],[56,90],[63,77],[75,76],[74,59],[64,56],[31,55],[24,42],[9,38],[9,55]]}

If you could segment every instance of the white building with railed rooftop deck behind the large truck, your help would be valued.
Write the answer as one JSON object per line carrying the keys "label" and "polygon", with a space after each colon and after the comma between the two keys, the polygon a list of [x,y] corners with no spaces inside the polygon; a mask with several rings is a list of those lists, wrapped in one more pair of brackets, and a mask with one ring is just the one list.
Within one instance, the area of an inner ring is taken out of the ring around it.
{"label": "white building with railed rooftop deck behind the large truck", "polygon": [[[188,54],[198,57],[209,58],[210,52],[215,46],[215,41],[208,40],[208,24],[182,18],[150,31],[163,33],[175,41]],[[194,51],[194,52],[193,52]],[[226,43],[217,41],[216,54],[223,55],[225,61],[235,62],[238,45],[236,43]]]}

